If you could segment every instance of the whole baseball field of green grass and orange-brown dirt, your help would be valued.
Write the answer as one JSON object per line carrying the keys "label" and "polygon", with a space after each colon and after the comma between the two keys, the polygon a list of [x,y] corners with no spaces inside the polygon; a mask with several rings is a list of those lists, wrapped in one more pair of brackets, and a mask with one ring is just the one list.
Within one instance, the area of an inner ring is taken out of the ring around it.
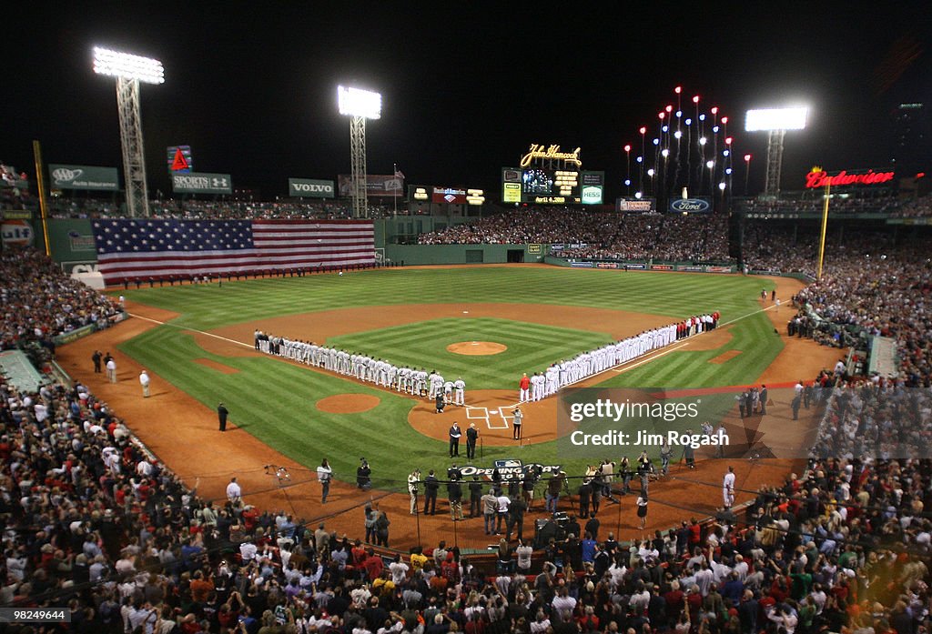
{"label": "whole baseball field of green grass and orange-brown dirt", "polygon": [[[583,386],[705,390],[726,394],[720,408],[726,411],[733,405],[733,386],[791,384],[837,360],[833,351],[774,330],[786,322],[789,309],[784,307],[780,317],[777,306],[761,301],[761,290],[776,289],[787,302],[800,286],[762,277],[484,265],[114,290],[126,296],[134,318],[68,346],[71,357],[66,348],[64,358],[66,370],[94,386],[89,361],[80,356],[89,354],[89,346],[112,347],[120,383],[101,382],[97,392],[109,402],[120,401],[118,411],[126,412],[128,424],[185,479],[215,479],[212,486],[218,489],[229,474],[258,472],[262,466],[237,464],[235,452],[223,445],[232,432],[242,446],[266,447],[269,457],[263,463],[291,465],[295,480],[312,480],[312,470],[326,457],[335,479],[351,484],[364,456],[376,490],[404,492],[415,467],[444,474],[451,462],[465,464],[464,447],[459,461],[447,454],[447,430],[454,420],[464,429],[475,424],[480,430],[476,465],[517,459],[561,465],[569,475],[581,475],[593,459],[557,446],[557,398],[523,406],[525,438],[520,444],[512,439],[509,414],[523,372],[543,371],[642,330],[719,311],[717,330],[605,371]],[[263,355],[254,350],[254,330],[439,371],[449,380],[461,377],[467,406],[436,414],[426,398]],[[143,367],[153,376],[154,389],[145,402],[136,381]],[[171,400],[178,395],[184,404]],[[741,451],[752,450],[764,433],[770,434],[771,446],[799,442],[797,430],[788,433],[785,424],[788,399],[774,399],[774,416],[759,422]],[[212,414],[220,401],[230,411],[226,435],[217,434]],[[203,429],[185,436],[187,425]],[[771,425],[767,432],[766,425]],[[625,453],[633,460],[639,449]],[[649,451],[656,456],[656,447]],[[620,455],[607,450],[604,457]],[[783,473],[789,468],[780,466]],[[720,476],[707,479],[714,483]],[[256,481],[271,485],[269,479]]]}

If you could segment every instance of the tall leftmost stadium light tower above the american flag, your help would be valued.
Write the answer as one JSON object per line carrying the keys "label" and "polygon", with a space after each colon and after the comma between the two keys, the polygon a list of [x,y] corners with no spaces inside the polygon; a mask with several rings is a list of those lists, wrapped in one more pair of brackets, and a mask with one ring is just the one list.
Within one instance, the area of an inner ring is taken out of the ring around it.
{"label": "tall leftmost stadium light tower above the american flag", "polygon": [[143,123],[139,114],[139,83],[164,84],[162,62],[139,55],[94,47],[94,73],[117,77],[119,141],[123,148],[126,209],[130,218],[149,215],[145,184]]}

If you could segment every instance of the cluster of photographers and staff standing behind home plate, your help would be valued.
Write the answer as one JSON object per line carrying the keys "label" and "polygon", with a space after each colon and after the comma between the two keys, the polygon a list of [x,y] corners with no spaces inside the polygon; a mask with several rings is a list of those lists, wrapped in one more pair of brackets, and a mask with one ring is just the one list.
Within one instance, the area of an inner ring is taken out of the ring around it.
{"label": "cluster of photographers and staff standing behind home plate", "polygon": [[[598,513],[601,506],[602,498],[605,498],[612,504],[620,504],[614,493],[625,495],[632,493],[631,482],[634,479],[640,480],[639,495],[645,500],[648,496],[648,488],[651,479],[657,479],[665,476],[668,469],[668,462],[664,461],[661,470],[654,468],[648,453],[641,452],[637,457],[636,466],[632,468],[627,456],[622,458],[621,463],[615,463],[609,460],[603,460],[599,465],[588,465],[585,475],[576,476],[572,479],[580,479],[580,486],[576,493],[579,496],[579,515],[580,517],[589,517],[591,513]],[[616,471],[617,468],[617,471]],[[469,517],[474,518],[479,515],[492,515],[491,500],[496,500],[494,514],[499,519],[494,529],[494,533],[500,532],[500,523],[507,519],[507,515],[515,513],[523,517],[525,511],[533,509],[534,492],[538,482],[541,481],[543,467],[541,465],[529,465],[528,469],[519,473],[514,478],[503,478],[499,469],[492,471],[488,480],[484,481],[479,476],[473,476],[472,480],[464,480],[462,471],[457,465],[451,465],[446,470],[446,479],[438,479],[434,470],[431,469],[426,478],[422,478],[420,469],[415,469],[407,479],[408,493],[410,495],[411,515],[417,515],[423,512],[424,515],[436,515],[437,495],[441,485],[446,486],[446,497],[450,511],[450,518],[454,521],[464,519],[463,516],[463,485],[469,492]],[[615,478],[621,479],[622,486],[619,489],[613,488]],[[570,478],[565,471],[558,471],[546,480],[544,510],[548,513],[557,513],[559,499],[561,495],[571,495],[569,486]],[[491,483],[491,488],[486,489]],[[507,489],[507,493],[504,492]],[[423,497],[423,506],[419,503],[419,497]],[[489,519],[486,519],[486,533],[490,533],[488,525]],[[510,532],[509,532],[510,535]],[[519,533],[520,538],[520,533]]]}

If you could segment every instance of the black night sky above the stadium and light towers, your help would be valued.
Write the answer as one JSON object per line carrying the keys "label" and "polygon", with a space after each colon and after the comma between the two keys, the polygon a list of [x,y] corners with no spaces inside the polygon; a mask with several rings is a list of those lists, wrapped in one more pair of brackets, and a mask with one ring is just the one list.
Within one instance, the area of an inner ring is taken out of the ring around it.
{"label": "black night sky above the stadium and light towers", "polygon": [[815,164],[886,168],[893,106],[932,101],[926,3],[632,4],[11,5],[0,159],[33,178],[37,139],[47,163],[122,172],[114,82],[93,74],[95,45],[165,66],[165,84],[142,87],[152,195],[169,192],[176,144],[192,146],[198,171],[265,199],[285,196],[289,177],[349,173],[340,83],[383,95],[367,124],[370,173],[397,163],[408,184],[492,193],[529,143],[559,143],[606,170],[610,198],[624,187],[624,144],[676,109],[678,85],[684,112],[699,94],[701,111],[730,117],[736,155],[754,155],[752,191],[766,134],[743,131],[748,108],[811,107],[784,155],[783,188],[800,189]]}

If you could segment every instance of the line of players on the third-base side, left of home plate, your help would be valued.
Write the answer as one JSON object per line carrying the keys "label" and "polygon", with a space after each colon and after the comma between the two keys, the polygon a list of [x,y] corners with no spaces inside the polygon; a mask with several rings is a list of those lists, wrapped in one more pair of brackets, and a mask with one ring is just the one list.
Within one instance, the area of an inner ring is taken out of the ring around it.
{"label": "line of players on the third-base side, left of home plate", "polygon": [[267,355],[289,358],[315,368],[323,368],[353,377],[363,383],[388,387],[403,394],[437,398],[444,395],[445,404],[466,404],[466,382],[462,377],[446,381],[437,371],[394,366],[385,359],[350,354],[346,350],[287,339],[261,330],[254,332],[255,349]]}

